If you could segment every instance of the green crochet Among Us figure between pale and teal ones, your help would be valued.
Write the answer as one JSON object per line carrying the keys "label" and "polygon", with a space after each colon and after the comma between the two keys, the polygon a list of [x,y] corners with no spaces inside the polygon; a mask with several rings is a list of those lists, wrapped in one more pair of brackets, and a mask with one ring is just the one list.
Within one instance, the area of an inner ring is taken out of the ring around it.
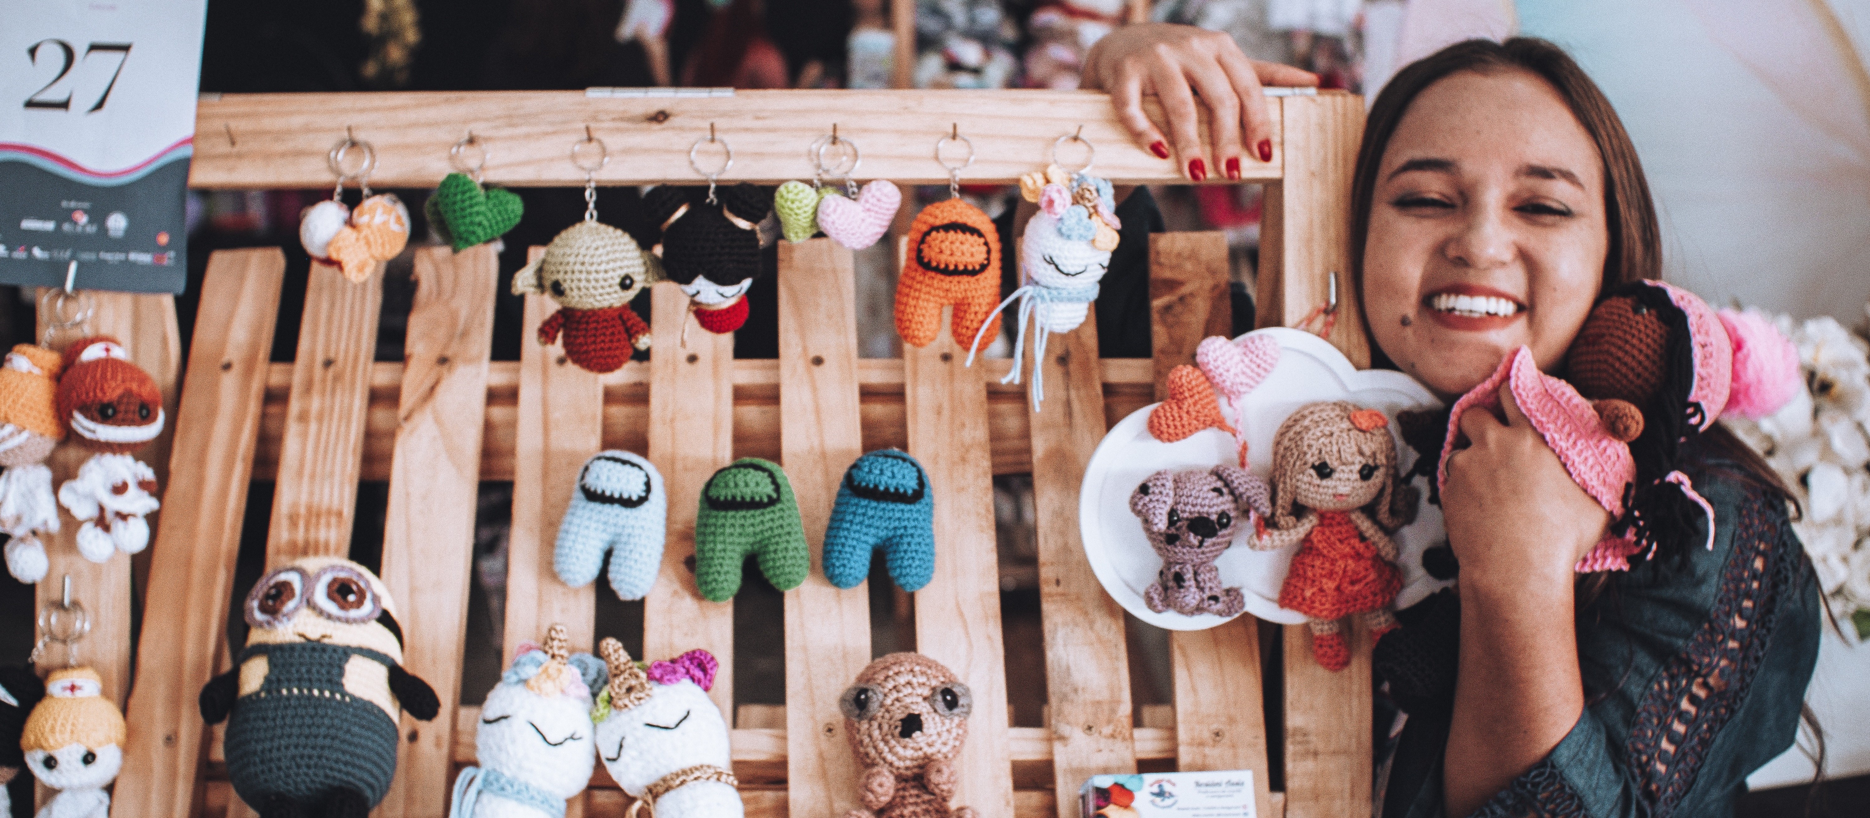
{"label": "green crochet Among Us figure between pale and teal ones", "polygon": [[741,458],[716,471],[701,487],[696,515],[696,586],[709,601],[741,592],[741,566],[759,558],[759,573],[774,588],[793,590],[812,571],[806,525],[798,519],[793,484],[778,463]]}

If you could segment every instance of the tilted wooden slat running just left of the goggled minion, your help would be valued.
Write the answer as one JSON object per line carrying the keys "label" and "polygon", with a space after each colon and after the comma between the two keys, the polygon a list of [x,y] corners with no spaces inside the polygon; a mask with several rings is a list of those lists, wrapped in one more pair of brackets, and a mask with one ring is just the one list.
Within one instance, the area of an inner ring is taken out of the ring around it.
{"label": "tilted wooden slat running just left of the goggled minion", "polygon": [[193,355],[174,418],[163,525],[129,697],[129,738],[116,799],[150,818],[185,818],[202,749],[196,697],[223,650],[247,482],[260,437],[267,355],[284,284],[279,248],[217,250],[202,282]]}

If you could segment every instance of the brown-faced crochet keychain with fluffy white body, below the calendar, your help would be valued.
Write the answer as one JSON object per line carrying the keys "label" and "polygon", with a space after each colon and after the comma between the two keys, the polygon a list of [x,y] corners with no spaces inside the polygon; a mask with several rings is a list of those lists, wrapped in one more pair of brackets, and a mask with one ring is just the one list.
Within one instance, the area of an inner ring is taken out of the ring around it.
{"label": "brown-faced crochet keychain with fluffy white body, below the calendar", "polygon": [[163,433],[163,392],[155,379],[129,362],[116,338],[84,338],[65,347],[58,379],[58,416],[71,424],[73,441],[97,452],[79,476],[58,487],[58,504],[80,519],[79,553],[105,562],[112,551],[138,553],[150,545],[155,512],[155,471],[129,452]]}

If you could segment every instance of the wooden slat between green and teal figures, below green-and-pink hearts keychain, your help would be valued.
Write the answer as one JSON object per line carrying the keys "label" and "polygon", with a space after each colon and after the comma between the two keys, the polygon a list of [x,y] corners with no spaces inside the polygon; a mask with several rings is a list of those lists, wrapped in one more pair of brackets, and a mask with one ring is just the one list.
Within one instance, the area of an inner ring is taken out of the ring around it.
{"label": "wooden slat between green and teal figures, below green-and-pink hearts keychain", "polygon": [[843,471],[864,454],[856,394],[856,280],[830,239],[780,245],[780,463],[812,547],[804,585],[785,592],[785,756],[795,814],[860,807],[858,764],[838,695],[870,663],[870,588],[825,579],[825,525]]}

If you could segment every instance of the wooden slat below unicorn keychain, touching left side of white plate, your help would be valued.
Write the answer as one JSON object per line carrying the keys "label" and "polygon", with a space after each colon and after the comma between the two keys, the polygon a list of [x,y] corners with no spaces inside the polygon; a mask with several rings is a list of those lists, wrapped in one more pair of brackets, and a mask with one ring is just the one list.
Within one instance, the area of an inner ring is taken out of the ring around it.
{"label": "wooden slat below unicorn keychain, touching left side of white plate", "polygon": [[[1053,783],[1070,796],[1092,775],[1137,769],[1124,609],[1098,585],[1077,530],[1085,465],[1105,431],[1096,314],[1051,336],[1045,359],[1027,372],[1043,372],[1047,387],[1032,416],[1032,461],[1043,463],[1032,469],[1032,502]],[[1058,799],[1058,818],[1077,814],[1075,797]]]}

